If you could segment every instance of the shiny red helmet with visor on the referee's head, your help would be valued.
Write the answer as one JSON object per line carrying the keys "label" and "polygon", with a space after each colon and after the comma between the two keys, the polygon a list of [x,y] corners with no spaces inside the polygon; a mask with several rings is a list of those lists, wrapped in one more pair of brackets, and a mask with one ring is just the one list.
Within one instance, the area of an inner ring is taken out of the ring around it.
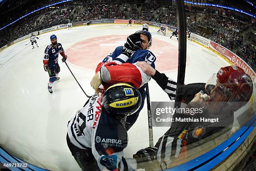
{"label": "shiny red helmet with visor on the referee's head", "polygon": [[[238,66],[226,66],[220,68],[206,83],[205,89],[211,94],[212,89],[217,88],[225,97],[225,101],[236,105],[234,110],[238,110],[251,98],[253,84],[251,78]],[[239,103],[232,103],[239,102]]]}

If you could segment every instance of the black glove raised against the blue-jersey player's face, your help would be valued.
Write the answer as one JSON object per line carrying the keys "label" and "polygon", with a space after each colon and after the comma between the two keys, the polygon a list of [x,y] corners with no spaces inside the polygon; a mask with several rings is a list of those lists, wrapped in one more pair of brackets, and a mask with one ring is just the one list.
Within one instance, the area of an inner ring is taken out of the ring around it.
{"label": "black glove raised against the blue-jersey player's face", "polygon": [[127,37],[126,43],[123,46],[122,54],[128,56],[129,58],[131,55],[141,47],[141,34],[134,33]]}

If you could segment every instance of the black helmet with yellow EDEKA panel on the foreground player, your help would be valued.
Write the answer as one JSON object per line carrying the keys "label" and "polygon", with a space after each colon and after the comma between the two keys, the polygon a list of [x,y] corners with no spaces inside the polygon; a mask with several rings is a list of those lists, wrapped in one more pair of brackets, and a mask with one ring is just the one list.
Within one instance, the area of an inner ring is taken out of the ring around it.
{"label": "black helmet with yellow EDEKA panel on the foreground player", "polygon": [[132,115],[139,109],[141,94],[129,84],[114,84],[105,91],[102,104],[110,115],[125,117]]}

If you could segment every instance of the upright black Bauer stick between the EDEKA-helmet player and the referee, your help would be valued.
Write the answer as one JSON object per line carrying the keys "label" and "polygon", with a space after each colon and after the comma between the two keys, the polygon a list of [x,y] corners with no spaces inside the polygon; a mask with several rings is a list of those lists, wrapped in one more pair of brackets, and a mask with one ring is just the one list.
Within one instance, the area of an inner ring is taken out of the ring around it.
{"label": "upright black Bauer stick between the EDEKA-helmet player and the referee", "polygon": [[147,107],[148,107],[148,138],[149,138],[149,146],[153,147],[154,146],[153,128],[152,128],[151,105],[150,105],[150,98],[149,98],[148,83],[146,83],[146,98],[147,98]]}

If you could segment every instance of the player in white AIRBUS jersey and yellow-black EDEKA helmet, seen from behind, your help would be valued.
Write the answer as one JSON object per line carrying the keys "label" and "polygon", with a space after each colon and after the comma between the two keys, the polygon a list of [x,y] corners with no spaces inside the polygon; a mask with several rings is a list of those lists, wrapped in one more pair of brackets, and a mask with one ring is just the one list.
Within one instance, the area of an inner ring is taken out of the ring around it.
{"label": "player in white AIRBUS jersey and yellow-black EDEKA helmet, seen from behind", "polygon": [[[103,74],[102,74],[103,76]],[[94,94],[68,123],[67,144],[83,171],[132,171],[136,160],[124,158],[126,117],[141,106],[140,92],[126,83]]]}

